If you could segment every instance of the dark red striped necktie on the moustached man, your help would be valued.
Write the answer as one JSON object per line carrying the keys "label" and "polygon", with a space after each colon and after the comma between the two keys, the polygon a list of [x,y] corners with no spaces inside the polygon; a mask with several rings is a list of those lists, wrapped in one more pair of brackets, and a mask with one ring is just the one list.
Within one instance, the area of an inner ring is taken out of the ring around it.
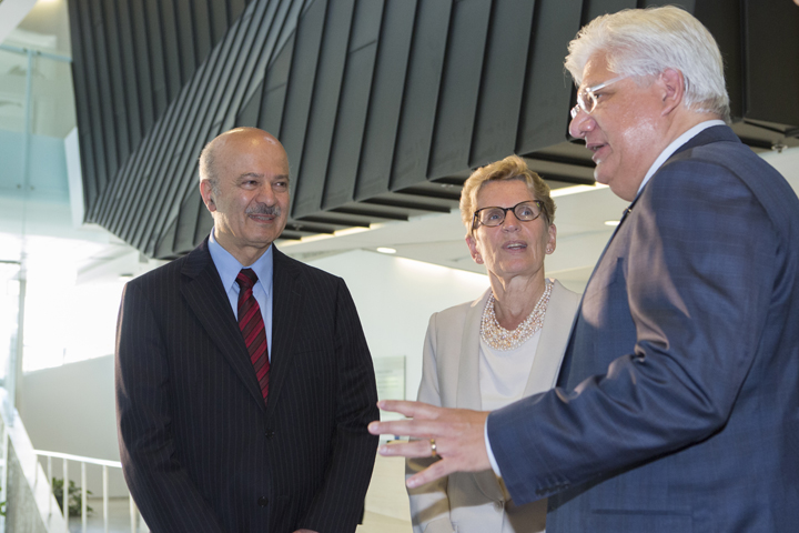
{"label": "dark red striped necktie on the moustached man", "polygon": [[250,352],[250,361],[255,369],[255,378],[261,385],[264,403],[269,394],[269,353],[266,351],[266,330],[264,328],[261,306],[257,304],[252,289],[257,275],[252,269],[242,269],[236,275],[239,291],[239,329],[244,336],[244,344]]}

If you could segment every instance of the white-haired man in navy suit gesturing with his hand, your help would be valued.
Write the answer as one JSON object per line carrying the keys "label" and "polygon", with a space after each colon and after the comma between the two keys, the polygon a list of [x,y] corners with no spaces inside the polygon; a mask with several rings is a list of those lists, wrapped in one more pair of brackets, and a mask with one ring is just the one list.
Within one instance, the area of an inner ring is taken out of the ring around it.
{"label": "white-haired man in navy suit gesturing with his hand", "polygon": [[[725,124],[712,37],[678,8],[600,17],[569,46],[570,133],[630,201],[586,288],[559,386],[494,413],[384,402],[443,457],[493,463],[547,532],[799,524],[799,200]],[[485,438],[484,438],[485,431]],[[429,441],[428,441],[429,440]]]}

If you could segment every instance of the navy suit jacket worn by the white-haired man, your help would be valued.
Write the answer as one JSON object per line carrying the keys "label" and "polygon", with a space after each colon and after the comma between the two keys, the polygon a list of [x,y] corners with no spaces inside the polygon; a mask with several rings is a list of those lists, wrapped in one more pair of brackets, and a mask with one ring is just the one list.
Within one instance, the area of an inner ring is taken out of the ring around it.
{"label": "navy suit jacket worn by the white-haired man", "polygon": [[548,533],[799,524],[799,200],[727,127],[651,178],[586,288],[560,388],[488,418]]}

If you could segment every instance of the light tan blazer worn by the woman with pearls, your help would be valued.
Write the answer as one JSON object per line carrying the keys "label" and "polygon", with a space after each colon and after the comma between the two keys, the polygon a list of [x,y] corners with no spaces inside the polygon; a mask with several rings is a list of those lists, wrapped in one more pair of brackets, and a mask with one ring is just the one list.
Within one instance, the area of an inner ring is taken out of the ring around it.
{"label": "light tan blazer worn by the woman with pearls", "polygon": [[[490,289],[474,302],[431,316],[418,400],[444,408],[481,410],[479,323]],[[555,385],[579,294],[555,281],[524,395]],[[408,460],[407,475],[428,459]],[[455,473],[408,490],[414,533],[530,533],[544,530],[546,500],[523,506],[509,501],[493,471]],[[457,529],[456,529],[457,527]]]}

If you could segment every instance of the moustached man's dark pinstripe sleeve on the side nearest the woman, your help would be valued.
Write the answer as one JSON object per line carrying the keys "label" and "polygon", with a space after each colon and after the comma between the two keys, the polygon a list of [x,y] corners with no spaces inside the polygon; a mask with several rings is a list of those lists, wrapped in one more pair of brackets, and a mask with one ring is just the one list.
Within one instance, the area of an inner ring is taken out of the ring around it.
{"label": "moustached man's dark pinstripe sleeve on the side nearest the woman", "polygon": [[367,425],[380,419],[374,366],[355,303],[337,280],[335,353],[338,401],[333,452],[322,489],[299,529],[320,533],[352,533],[360,522],[378,436]]}

